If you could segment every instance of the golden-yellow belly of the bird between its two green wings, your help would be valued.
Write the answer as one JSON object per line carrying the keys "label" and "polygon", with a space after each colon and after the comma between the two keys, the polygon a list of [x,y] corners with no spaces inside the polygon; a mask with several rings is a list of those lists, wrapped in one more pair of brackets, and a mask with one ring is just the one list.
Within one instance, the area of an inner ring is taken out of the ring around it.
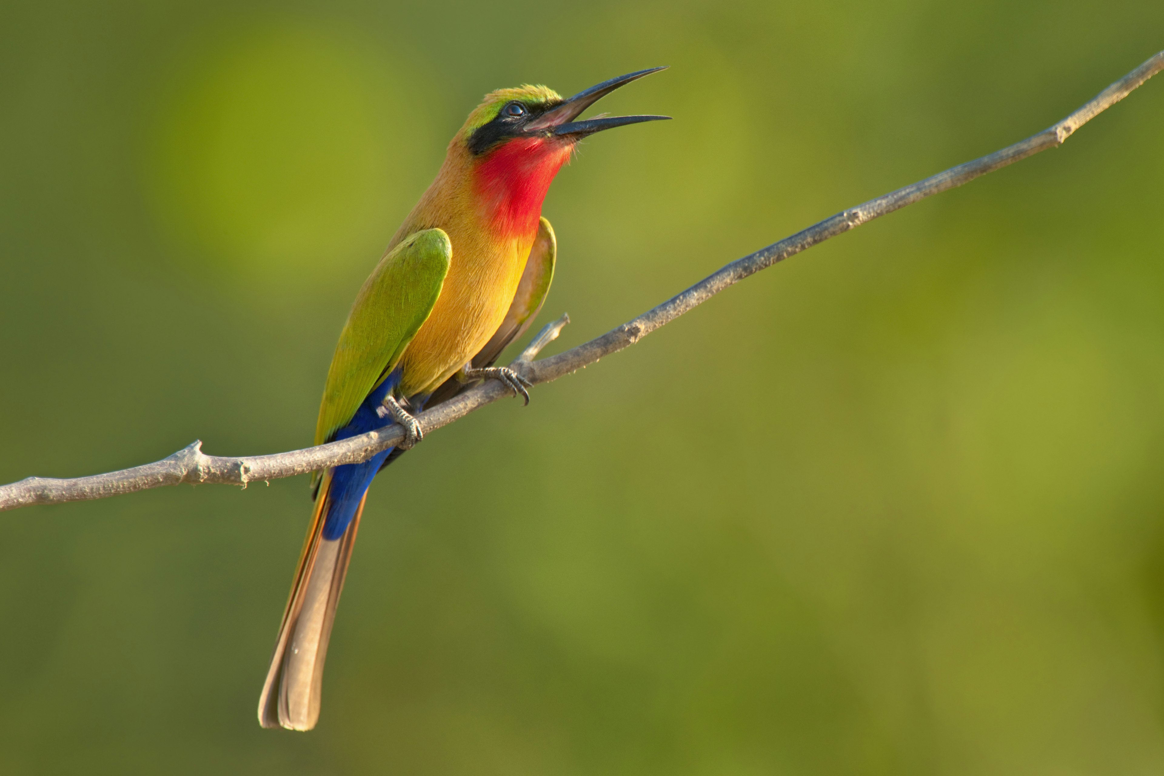
{"label": "golden-yellow belly of the bird between its two green wings", "polygon": [[535,235],[487,241],[446,229],[453,261],[436,305],[400,359],[400,393],[428,393],[485,347],[517,293]]}

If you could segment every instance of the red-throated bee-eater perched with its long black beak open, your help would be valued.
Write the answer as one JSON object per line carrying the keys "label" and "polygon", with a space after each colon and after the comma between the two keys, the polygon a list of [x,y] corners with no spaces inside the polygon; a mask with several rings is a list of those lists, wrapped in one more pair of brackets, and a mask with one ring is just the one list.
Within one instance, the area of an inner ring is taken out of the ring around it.
{"label": "red-throated bee-eater perched with its long black beak open", "polygon": [[545,86],[485,95],[448,144],[436,180],[397,230],[356,296],[327,371],[315,444],[400,423],[405,441],[315,482],[315,508],[267,683],[263,727],[310,731],[319,719],[324,658],[368,486],[424,435],[412,417],[480,379],[514,396],[528,384],[494,361],[541,309],[556,243],[541,202],[588,135],[668,116],[575,121],[619,86],[612,78],[563,100]]}

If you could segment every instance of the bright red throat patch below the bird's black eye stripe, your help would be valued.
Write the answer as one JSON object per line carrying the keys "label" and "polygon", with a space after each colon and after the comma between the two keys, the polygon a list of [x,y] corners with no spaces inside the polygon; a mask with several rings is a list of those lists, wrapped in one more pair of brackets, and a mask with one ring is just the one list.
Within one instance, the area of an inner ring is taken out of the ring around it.
{"label": "bright red throat patch below the bird's black eye stripe", "polygon": [[517,137],[481,162],[477,195],[497,236],[537,233],[541,202],[573,150],[573,143]]}

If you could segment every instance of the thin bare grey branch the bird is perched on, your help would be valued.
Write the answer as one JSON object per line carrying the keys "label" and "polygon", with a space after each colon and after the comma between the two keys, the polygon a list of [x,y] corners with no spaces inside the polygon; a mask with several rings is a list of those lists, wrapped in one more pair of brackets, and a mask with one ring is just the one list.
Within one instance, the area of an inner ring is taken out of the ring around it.
{"label": "thin bare grey branch the bird is perched on", "polygon": [[[803,232],[728,264],[687,291],[596,340],[590,340],[556,356],[534,361],[538,353],[555,340],[562,327],[569,322],[569,318],[563,315],[561,320],[544,328],[511,366],[533,384],[548,383],[577,371],[597,362],[603,356],[609,356],[634,344],[647,334],[703,304],[728,286],[739,283],[776,262],[927,197],[960,186],[979,176],[1014,164],[1039,151],[1062,145],[1072,133],[1122,100],[1161,70],[1164,70],[1164,51],[1108,86],[1063,121],[1037,135],[889,192],[883,197],[878,197],[864,205],[837,213]],[[447,426],[474,410],[509,396],[512,393],[508,389],[490,380],[423,412],[419,420],[425,430],[432,430]],[[392,425],[319,447],[242,458],[206,455],[201,451],[201,442],[193,442],[168,458],[143,467],[74,479],[29,477],[19,483],[0,486],[0,511],[14,510],[30,504],[58,504],[106,498],[179,483],[222,483],[246,486],[247,483],[256,480],[293,477],[345,463],[367,461],[381,450],[399,443],[403,439],[403,429]]]}

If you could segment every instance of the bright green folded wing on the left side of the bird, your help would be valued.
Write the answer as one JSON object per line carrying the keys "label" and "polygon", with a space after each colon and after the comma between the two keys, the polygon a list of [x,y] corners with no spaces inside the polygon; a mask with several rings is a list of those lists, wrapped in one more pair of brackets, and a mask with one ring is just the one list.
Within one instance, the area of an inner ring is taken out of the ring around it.
{"label": "bright green folded wing on the left side of the bird", "polygon": [[410,235],[379,259],[356,296],[335,346],[315,423],[315,444],[348,425],[436,304],[453,244],[440,229]]}

